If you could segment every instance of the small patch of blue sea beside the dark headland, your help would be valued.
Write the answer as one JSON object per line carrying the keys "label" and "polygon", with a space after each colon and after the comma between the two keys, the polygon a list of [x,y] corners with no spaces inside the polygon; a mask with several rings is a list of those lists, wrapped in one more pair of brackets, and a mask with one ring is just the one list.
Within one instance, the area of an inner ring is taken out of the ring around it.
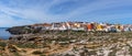
{"label": "small patch of blue sea beside the dark headland", "polygon": [[0,38],[8,40],[10,37],[10,33],[6,31],[8,27],[0,27]]}

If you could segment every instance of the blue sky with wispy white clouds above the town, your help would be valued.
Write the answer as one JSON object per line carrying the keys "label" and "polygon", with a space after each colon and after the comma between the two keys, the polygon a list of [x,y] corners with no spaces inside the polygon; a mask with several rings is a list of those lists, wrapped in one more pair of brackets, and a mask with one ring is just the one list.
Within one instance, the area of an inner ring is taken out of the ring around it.
{"label": "blue sky with wispy white clouds above the town", "polygon": [[0,27],[67,21],[132,24],[132,0],[0,0]]}

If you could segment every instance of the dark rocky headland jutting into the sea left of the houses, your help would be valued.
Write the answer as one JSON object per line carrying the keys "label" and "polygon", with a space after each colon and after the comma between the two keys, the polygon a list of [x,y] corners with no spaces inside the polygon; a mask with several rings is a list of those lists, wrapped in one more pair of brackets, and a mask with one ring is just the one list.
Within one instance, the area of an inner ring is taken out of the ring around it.
{"label": "dark rocky headland jutting into the sea left of the houses", "polygon": [[34,29],[31,25],[13,26],[8,29],[7,31],[9,31],[9,33],[13,35],[19,35],[19,34],[38,33],[41,31],[41,27]]}

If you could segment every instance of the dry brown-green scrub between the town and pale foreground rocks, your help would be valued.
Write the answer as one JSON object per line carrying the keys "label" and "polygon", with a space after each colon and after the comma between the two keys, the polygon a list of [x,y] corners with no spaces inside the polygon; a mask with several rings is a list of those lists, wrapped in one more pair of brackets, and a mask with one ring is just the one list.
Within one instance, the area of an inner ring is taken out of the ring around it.
{"label": "dry brown-green scrub between the town and pale foreground rocks", "polygon": [[[26,42],[13,40],[0,41],[0,56],[55,56],[58,53],[62,54],[69,49],[79,51],[79,47],[95,49],[88,53],[96,54],[99,47],[108,47],[117,43],[130,46],[127,42],[132,41],[132,32],[45,32],[32,36],[34,36],[35,40]],[[111,49],[113,49],[113,52],[111,52],[109,56],[116,55],[119,48],[113,47]],[[132,55],[131,46],[129,52]]]}

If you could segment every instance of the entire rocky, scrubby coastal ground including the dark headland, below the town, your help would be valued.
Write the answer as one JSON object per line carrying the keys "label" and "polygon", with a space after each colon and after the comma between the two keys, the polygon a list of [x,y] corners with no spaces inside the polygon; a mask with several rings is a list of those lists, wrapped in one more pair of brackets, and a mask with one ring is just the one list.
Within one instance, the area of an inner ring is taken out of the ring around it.
{"label": "entire rocky, scrubby coastal ground including the dark headland, below the town", "polygon": [[132,32],[42,31],[30,25],[7,31],[12,36],[0,40],[0,56],[132,55]]}

